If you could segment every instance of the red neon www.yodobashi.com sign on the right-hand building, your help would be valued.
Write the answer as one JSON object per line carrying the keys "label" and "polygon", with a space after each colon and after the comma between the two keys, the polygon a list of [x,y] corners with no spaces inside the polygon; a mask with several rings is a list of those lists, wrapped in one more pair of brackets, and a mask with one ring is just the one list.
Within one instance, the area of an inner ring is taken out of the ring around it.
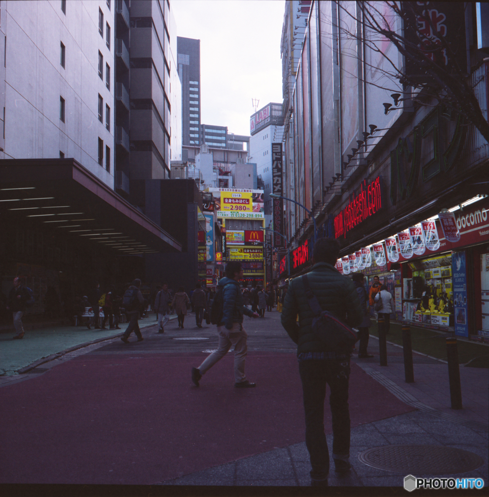
{"label": "red neon www.yodobashi.com sign on the right-hand building", "polygon": [[375,214],[383,206],[381,176],[367,185],[365,180],[358,195],[350,197],[349,204],[334,218],[334,237],[346,237],[346,233]]}

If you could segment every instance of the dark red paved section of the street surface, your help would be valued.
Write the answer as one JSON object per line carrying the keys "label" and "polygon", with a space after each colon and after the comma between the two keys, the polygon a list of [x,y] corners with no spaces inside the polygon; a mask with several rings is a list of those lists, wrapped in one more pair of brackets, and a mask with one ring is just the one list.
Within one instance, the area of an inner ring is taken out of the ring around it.
{"label": "dark red paved section of the street surface", "polygon": [[[0,388],[0,483],[154,484],[304,440],[295,354],[233,354],[199,388],[205,354],[87,354]],[[326,403],[327,406],[327,403]],[[412,409],[352,365],[352,426]],[[330,432],[330,413],[326,409]]]}

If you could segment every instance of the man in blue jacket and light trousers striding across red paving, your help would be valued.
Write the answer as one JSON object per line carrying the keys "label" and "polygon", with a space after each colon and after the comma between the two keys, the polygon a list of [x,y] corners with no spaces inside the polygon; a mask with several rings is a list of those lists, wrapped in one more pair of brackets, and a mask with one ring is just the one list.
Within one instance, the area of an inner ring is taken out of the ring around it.
{"label": "man in blue jacket and light trousers striding across red paving", "polygon": [[244,307],[240,279],[243,279],[241,262],[228,262],[226,264],[226,277],[219,281],[218,291],[211,308],[211,323],[217,324],[219,348],[207,356],[200,366],[192,368],[191,378],[196,387],[199,386],[202,375],[228,353],[231,345],[234,345],[235,353],[235,387],[252,388],[256,386],[256,383],[249,382],[244,375],[248,335],[243,328],[243,315],[257,318],[258,314]]}

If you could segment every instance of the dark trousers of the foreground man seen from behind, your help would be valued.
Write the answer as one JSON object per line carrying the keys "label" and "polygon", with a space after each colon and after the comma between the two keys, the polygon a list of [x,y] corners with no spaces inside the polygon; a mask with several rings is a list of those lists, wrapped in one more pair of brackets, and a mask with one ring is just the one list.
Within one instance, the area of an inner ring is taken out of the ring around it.
{"label": "dark trousers of the foreground man seen from behind", "polygon": [[306,414],[306,446],[311,458],[311,477],[323,480],[329,472],[324,409],[326,383],[331,395],[331,420],[333,425],[333,459],[344,458],[350,453],[350,413],[348,409],[348,379],[350,360],[323,359],[299,362],[299,372],[304,395]]}

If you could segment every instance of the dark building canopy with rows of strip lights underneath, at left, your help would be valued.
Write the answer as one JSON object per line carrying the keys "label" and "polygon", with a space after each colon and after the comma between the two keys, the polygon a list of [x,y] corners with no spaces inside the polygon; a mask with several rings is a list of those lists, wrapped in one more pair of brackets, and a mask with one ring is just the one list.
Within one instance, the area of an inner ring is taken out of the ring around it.
{"label": "dark building canopy with rows of strip lights underneath, at left", "polygon": [[[114,255],[181,251],[181,244],[73,159],[0,162],[0,215]],[[79,238],[80,237],[80,238]]]}

